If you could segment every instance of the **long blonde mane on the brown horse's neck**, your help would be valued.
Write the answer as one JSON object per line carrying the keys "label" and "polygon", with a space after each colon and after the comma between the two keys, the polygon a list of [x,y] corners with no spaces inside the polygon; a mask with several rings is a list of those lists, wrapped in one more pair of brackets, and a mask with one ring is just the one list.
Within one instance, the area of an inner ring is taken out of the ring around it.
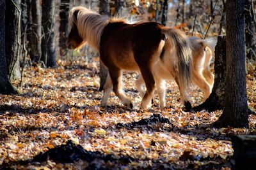
{"label": "long blonde mane on the brown horse's neck", "polygon": [[[76,11],[77,18],[74,17]],[[68,22],[72,27],[76,25],[84,43],[87,41],[92,48],[95,48],[95,50],[99,52],[100,38],[104,28],[109,22],[113,22],[113,20],[121,21],[121,19],[118,18],[109,18],[108,15],[99,15],[99,13],[84,8],[83,6],[76,6],[70,10]]]}

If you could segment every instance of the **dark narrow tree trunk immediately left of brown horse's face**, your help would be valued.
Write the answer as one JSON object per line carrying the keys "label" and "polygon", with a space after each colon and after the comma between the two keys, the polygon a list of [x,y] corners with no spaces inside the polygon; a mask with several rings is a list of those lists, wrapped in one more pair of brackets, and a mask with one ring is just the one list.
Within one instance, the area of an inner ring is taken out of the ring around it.
{"label": "dark narrow tree trunk immediately left of brown horse's face", "polygon": [[68,32],[68,11],[70,10],[70,0],[61,0],[60,3],[60,55],[67,54],[67,32]]}

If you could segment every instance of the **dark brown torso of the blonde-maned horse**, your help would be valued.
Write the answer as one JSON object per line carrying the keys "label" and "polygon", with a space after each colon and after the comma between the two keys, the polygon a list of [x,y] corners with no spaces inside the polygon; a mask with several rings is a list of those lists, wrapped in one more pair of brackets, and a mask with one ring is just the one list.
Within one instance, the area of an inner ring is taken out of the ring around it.
{"label": "dark brown torso of the blonde-maned horse", "polygon": [[109,22],[100,39],[102,61],[120,69],[138,71],[138,64],[148,62],[157,50],[161,27],[163,25],[156,22]]}

